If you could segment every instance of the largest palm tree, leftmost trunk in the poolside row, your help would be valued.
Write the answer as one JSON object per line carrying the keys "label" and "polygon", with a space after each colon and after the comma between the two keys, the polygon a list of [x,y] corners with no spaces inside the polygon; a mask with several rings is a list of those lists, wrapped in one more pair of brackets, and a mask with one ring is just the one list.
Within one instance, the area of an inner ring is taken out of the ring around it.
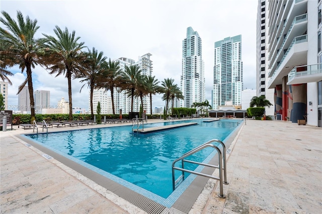
{"label": "largest palm tree, leftmost trunk in the poolside row", "polygon": [[[41,40],[36,39],[34,36],[39,26],[37,26],[36,19],[31,20],[29,16],[24,19],[20,11],[17,11],[17,22],[5,11],[1,13],[3,17],[0,18],[0,22],[2,26],[6,27],[6,29],[0,27],[1,67],[6,68],[19,65],[21,72],[24,72],[26,69],[27,77],[19,86],[18,93],[28,83],[31,119],[33,119],[35,117],[35,101],[32,68],[35,68],[35,65],[40,63],[39,56],[42,44]],[[1,78],[8,79],[7,75],[11,75],[11,72],[1,69]]]}

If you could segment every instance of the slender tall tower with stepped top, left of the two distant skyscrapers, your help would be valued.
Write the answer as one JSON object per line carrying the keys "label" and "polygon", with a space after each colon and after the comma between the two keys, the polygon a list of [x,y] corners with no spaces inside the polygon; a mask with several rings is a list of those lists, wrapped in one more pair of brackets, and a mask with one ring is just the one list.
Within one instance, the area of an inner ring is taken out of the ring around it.
{"label": "slender tall tower with stepped top, left of the two distant skyscrapers", "polygon": [[206,98],[201,38],[191,27],[187,28],[187,38],[182,41],[180,88],[184,96],[180,100],[181,107],[191,108],[192,103],[203,102]]}

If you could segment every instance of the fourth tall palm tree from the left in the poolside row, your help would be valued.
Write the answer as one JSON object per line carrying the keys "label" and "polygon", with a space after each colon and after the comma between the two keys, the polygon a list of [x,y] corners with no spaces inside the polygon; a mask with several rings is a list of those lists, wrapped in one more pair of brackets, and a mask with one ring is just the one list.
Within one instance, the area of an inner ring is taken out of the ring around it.
{"label": "fourth tall palm tree from the left in the poolside row", "polygon": [[122,80],[122,71],[119,64],[119,61],[111,61],[111,59],[109,59],[109,62],[104,63],[97,84],[97,88],[105,88],[105,92],[111,91],[113,115],[115,115],[114,88],[119,87]]}

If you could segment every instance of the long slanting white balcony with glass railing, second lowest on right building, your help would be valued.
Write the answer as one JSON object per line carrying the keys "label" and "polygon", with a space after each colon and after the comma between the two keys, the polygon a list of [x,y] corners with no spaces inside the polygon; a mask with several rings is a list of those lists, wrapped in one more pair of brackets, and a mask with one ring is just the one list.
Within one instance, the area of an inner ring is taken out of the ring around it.
{"label": "long slanting white balcony with glass railing, second lowest on right building", "polygon": [[269,74],[272,74],[272,72],[273,74],[268,81],[268,88],[274,88],[275,85],[282,84],[282,78],[287,76],[295,66],[307,64],[307,48],[307,35],[293,39],[277,67],[270,71]]}

